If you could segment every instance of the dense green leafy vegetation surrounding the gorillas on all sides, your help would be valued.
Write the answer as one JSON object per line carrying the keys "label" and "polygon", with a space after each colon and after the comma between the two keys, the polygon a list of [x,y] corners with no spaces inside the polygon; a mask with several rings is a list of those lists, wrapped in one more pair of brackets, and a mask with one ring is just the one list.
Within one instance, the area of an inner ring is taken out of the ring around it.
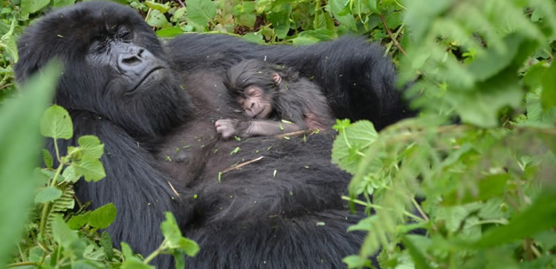
{"label": "dense green leafy vegetation surrounding the gorillas on all sides", "polygon": [[[43,151],[46,167],[31,173],[39,133],[67,139],[71,120],[59,106],[41,119],[55,67],[16,92],[15,40],[73,2],[0,0],[0,264],[139,268],[161,253],[182,264],[198,247],[171,214],[159,250],[137,257],[97,232],[113,221],[113,205],[87,211],[73,200],[72,182],[104,176],[98,138],[80,138],[68,156]],[[335,127],[333,162],[354,174],[342,198],[369,214],[351,228],[367,236],[349,267],[379,252],[383,268],[556,268],[555,1],[158,2],[123,1],[162,38],[210,32],[301,45],[365,35],[394,59],[400,84],[412,83],[417,118],[380,133],[365,121]],[[75,203],[82,210],[68,212]]]}

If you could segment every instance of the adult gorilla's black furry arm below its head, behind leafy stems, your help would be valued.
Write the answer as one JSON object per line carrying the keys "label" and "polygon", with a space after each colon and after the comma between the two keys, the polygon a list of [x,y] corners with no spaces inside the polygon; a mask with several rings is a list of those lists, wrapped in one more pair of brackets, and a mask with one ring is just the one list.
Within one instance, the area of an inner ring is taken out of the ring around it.
{"label": "adult gorilla's black furry arm below its head, behind leafy stems", "polygon": [[[89,210],[114,203],[116,221],[106,229],[112,242],[119,248],[119,242],[124,241],[134,251],[150,254],[162,243],[160,223],[164,221],[164,212],[176,212],[175,202],[180,200],[170,184],[180,192],[180,183],[159,171],[153,156],[110,120],[83,111],[71,113],[71,118],[76,133],[71,140],[59,140],[61,154],[65,154],[68,146],[77,145],[77,139],[83,135],[98,136],[104,143],[101,161],[106,178],[96,183],[79,180],[75,186],[77,196],[82,202],[91,201]],[[55,154],[52,140],[47,147]],[[183,203],[180,207],[188,205]],[[162,256],[155,263],[164,265],[162,268],[170,266],[171,256]]]}

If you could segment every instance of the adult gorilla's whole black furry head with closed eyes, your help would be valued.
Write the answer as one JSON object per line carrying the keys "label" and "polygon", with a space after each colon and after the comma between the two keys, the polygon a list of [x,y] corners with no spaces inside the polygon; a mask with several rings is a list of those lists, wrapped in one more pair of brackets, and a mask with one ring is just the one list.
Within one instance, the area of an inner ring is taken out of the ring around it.
{"label": "adult gorilla's whole black furry head with closed eyes", "polygon": [[18,48],[19,81],[58,57],[64,73],[55,102],[98,114],[134,136],[157,136],[189,113],[186,93],[156,35],[124,6],[62,8],[28,28]]}

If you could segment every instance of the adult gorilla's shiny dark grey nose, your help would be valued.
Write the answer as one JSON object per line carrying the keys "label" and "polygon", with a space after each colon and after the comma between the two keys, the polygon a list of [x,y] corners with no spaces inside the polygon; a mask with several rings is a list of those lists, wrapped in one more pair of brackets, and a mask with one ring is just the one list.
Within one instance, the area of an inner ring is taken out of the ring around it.
{"label": "adult gorilla's shiny dark grey nose", "polygon": [[153,53],[145,48],[133,48],[118,57],[118,68],[128,75],[140,75],[148,71],[155,64],[156,58]]}

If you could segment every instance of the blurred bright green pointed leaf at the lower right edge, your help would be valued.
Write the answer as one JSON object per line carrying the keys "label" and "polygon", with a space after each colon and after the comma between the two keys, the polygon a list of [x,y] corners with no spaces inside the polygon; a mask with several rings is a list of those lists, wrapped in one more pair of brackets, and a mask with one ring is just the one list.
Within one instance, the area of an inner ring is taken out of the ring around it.
{"label": "blurred bright green pointed leaf at the lower right edge", "polygon": [[535,199],[526,210],[519,212],[510,224],[487,230],[483,237],[471,243],[474,248],[492,248],[495,245],[512,243],[527,236],[549,230],[556,225],[556,189],[549,188]]}

